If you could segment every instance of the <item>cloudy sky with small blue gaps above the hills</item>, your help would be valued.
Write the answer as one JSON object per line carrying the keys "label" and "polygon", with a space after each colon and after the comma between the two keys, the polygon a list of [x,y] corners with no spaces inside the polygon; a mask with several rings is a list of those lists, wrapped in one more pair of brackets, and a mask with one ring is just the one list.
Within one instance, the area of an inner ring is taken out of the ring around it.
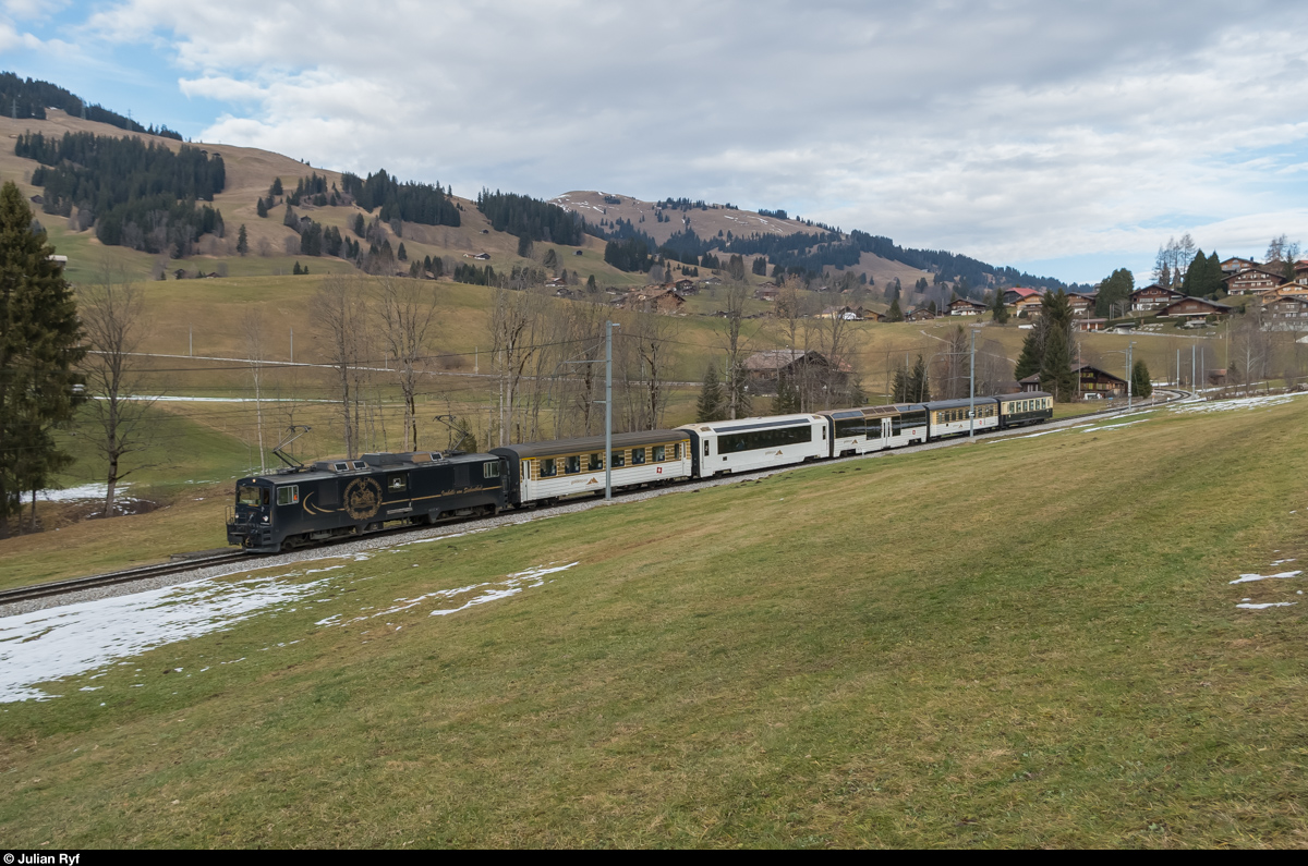
{"label": "cloudy sky with small blue gaps above the hills", "polygon": [[460,195],[781,207],[1075,281],[1308,242],[1301,1],[0,8],[0,68]]}

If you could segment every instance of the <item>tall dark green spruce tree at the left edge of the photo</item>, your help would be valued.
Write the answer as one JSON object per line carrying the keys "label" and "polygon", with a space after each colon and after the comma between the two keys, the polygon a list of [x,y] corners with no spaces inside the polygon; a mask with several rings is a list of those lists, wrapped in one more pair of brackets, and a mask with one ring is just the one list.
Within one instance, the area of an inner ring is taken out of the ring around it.
{"label": "tall dark green spruce tree at the left edge of the photo", "polygon": [[76,365],[85,355],[73,293],[44,232],[13,182],[0,188],[0,536],[24,492],[71,463],[51,430],[84,399]]}

